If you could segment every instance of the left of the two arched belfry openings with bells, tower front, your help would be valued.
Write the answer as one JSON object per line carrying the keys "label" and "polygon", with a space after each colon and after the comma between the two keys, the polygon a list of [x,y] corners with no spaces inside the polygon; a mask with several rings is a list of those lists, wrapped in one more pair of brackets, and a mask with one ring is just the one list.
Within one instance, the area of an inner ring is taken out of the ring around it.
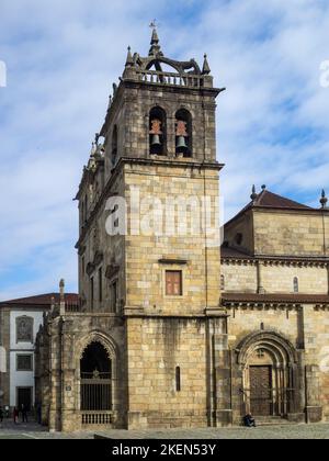
{"label": "left of the two arched belfry openings with bells, tower front", "polygon": [[161,108],[154,108],[149,114],[149,153],[167,154],[167,115]]}

